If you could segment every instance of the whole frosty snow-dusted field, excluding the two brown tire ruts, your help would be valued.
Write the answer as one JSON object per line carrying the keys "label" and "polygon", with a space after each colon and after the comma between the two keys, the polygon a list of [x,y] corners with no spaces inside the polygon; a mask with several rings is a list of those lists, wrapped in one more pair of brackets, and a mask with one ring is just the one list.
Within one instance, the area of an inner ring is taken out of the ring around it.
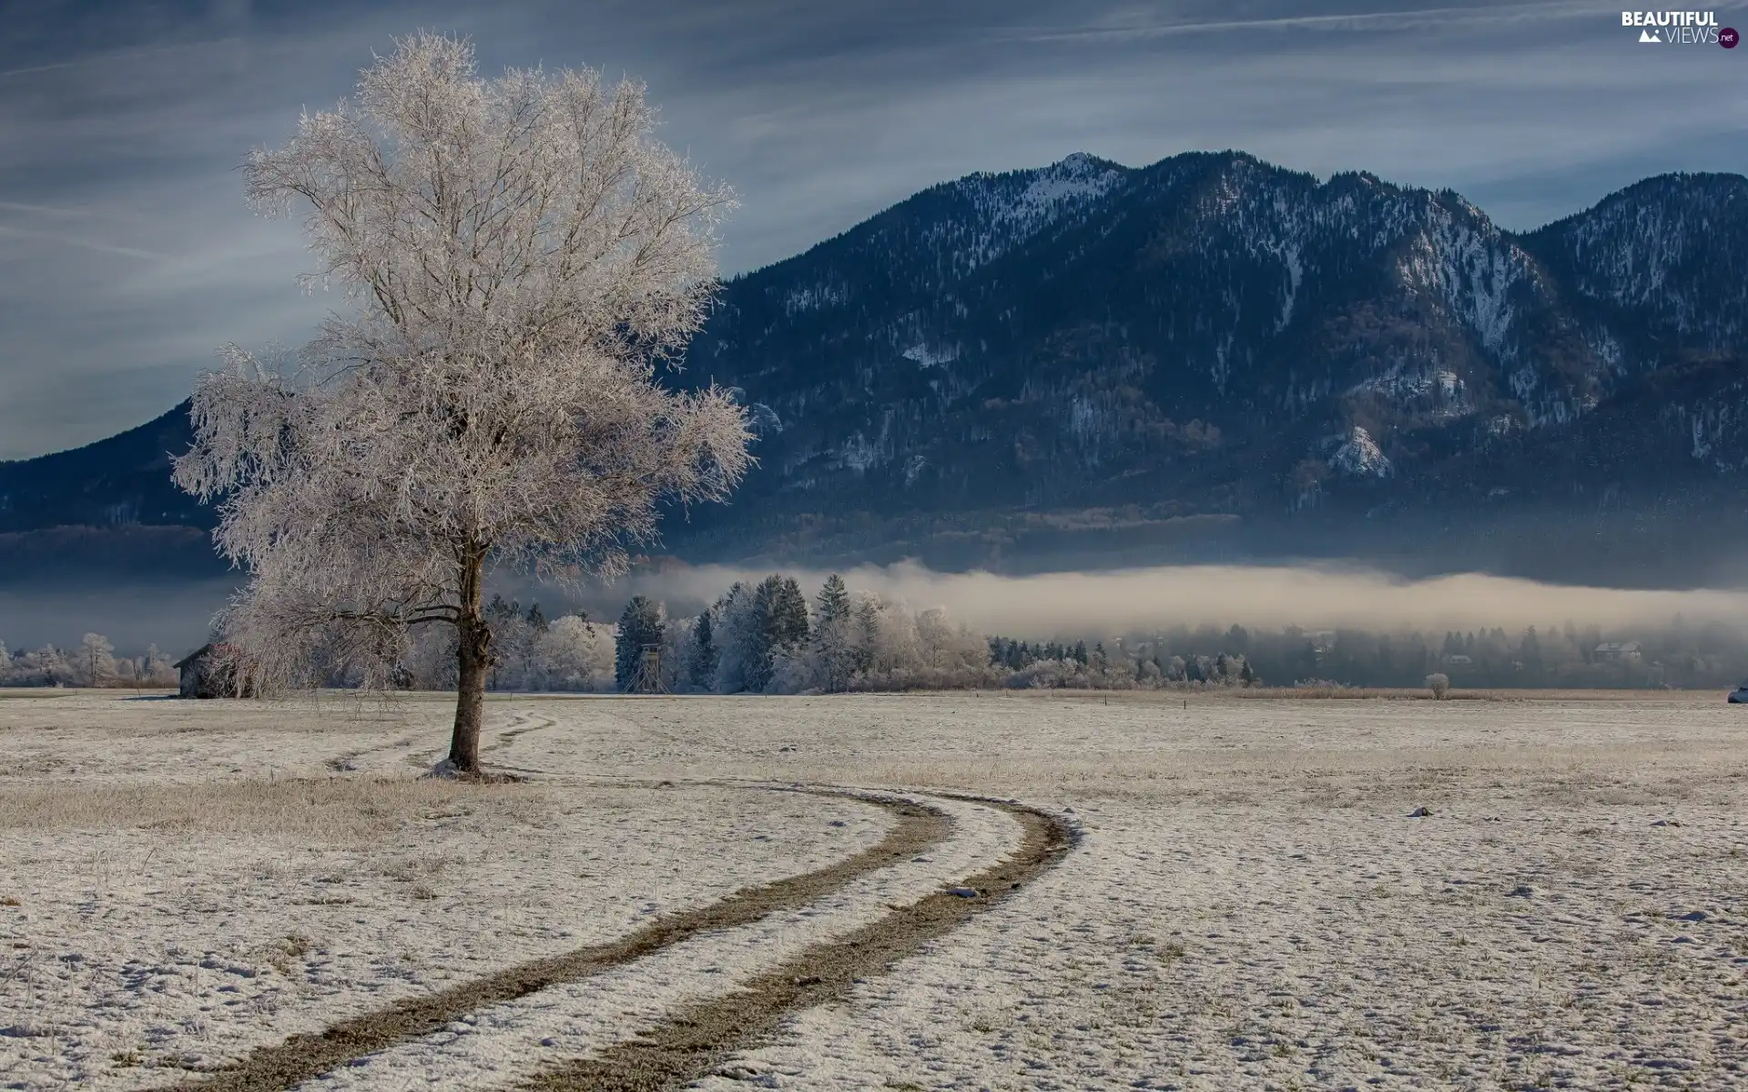
{"label": "whole frosty snow-dusted field, excluding the two brown tire ruts", "polygon": [[[1105,704],[1108,701],[1108,704]],[[0,695],[0,1087],[149,1089],[951,819],[813,903],[309,1080],[509,1089],[1019,853],[1066,858],[703,1087],[1748,1085],[1748,709],[1180,695]],[[666,784],[664,784],[666,783]],[[1412,816],[1426,809],[1430,814]]]}

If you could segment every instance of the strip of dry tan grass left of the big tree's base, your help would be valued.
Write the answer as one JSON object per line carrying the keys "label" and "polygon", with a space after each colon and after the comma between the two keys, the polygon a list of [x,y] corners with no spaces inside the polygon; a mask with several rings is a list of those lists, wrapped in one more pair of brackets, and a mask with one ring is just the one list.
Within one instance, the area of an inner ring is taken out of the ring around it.
{"label": "strip of dry tan grass left of the big tree's base", "polygon": [[537,786],[411,778],[19,786],[0,793],[0,830],[276,833],[357,844],[421,819],[456,819],[475,809],[544,812],[547,802]]}

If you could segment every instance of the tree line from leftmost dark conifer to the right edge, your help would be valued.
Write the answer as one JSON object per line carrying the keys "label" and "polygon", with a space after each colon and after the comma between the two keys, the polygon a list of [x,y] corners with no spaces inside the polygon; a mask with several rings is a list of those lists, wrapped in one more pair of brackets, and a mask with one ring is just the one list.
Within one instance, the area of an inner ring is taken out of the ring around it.
{"label": "tree line from leftmost dark conifer to the right edge", "polygon": [[1204,688],[1257,685],[1458,688],[1731,687],[1748,634],[1718,622],[1474,631],[1164,625],[1105,636],[981,634],[942,608],[912,612],[829,577],[811,601],[794,577],[736,584],[696,617],[638,596],[614,627],[619,688],[654,648],[680,692],[909,688]]}

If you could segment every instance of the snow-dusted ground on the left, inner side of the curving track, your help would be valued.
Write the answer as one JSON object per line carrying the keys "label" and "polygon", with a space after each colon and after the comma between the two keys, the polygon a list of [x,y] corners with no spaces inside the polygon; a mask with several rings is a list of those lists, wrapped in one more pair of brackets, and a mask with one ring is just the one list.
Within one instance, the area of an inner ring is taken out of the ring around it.
{"label": "snow-dusted ground on the left, inner side of the curving track", "polygon": [[[0,701],[0,1087],[161,1085],[891,825],[797,793],[418,781],[440,704],[329,704]],[[495,758],[547,720],[489,713]]]}

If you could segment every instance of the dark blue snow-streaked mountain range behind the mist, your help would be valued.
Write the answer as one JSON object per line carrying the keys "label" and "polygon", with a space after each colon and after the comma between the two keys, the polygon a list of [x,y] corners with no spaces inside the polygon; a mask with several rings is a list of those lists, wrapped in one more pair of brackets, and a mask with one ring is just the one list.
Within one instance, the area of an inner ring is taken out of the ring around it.
{"label": "dark blue snow-streaked mountain range behind the mist", "polygon": [[[1692,582],[1748,529],[1745,262],[1736,175],[1528,234],[1238,152],[972,175],[724,287],[678,381],[739,388],[760,467],[668,543]],[[203,526],[185,435],[0,465],[0,538]]]}

